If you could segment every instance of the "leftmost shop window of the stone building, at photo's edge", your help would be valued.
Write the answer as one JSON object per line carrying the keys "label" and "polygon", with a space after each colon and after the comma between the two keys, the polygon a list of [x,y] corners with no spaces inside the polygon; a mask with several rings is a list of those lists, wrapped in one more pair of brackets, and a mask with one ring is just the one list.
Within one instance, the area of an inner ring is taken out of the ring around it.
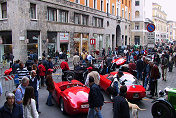
{"label": "leftmost shop window of the stone building, at photo's edge", "polygon": [[6,59],[10,59],[12,54],[12,32],[11,31],[1,31],[0,32],[0,62],[3,61],[3,55]]}

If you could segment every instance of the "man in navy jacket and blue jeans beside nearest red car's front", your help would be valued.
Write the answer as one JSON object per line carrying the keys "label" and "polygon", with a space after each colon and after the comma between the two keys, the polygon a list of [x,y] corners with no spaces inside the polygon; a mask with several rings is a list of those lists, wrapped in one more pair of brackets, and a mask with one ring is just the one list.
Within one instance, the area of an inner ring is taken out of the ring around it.
{"label": "man in navy jacket and blue jeans beside nearest red car's front", "polygon": [[90,92],[88,97],[89,112],[87,118],[102,118],[101,108],[104,103],[104,97],[98,85],[94,83],[94,78],[89,77]]}

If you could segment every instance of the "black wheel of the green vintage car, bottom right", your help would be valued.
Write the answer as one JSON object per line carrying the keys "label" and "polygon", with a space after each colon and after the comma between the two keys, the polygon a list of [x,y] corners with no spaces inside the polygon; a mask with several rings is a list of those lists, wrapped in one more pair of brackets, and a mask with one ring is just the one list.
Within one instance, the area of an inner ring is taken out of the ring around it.
{"label": "black wheel of the green vintage car, bottom right", "polygon": [[168,105],[156,102],[152,106],[153,118],[173,118],[172,110]]}

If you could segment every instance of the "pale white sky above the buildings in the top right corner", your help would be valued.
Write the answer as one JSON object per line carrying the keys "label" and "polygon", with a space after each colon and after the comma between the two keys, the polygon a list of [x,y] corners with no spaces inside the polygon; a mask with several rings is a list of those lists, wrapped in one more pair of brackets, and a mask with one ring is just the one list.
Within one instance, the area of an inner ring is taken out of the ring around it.
{"label": "pale white sky above the buildings in the top right corner", "polygon": [[167,13],[167,20],[176,21],[176,0],[153,0]]}

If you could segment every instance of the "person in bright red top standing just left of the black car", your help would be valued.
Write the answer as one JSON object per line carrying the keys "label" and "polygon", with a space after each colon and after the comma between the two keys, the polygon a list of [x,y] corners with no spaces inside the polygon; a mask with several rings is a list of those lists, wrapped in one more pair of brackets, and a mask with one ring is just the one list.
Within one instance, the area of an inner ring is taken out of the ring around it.
{"label": "person in bright red top standing just left of the black car", "polygon": [[61,62],[60,67],[62,69],[62,81],[65,81],[65,71],[70,70],[68,66],[68,59],[65,59],[65,61]]}

